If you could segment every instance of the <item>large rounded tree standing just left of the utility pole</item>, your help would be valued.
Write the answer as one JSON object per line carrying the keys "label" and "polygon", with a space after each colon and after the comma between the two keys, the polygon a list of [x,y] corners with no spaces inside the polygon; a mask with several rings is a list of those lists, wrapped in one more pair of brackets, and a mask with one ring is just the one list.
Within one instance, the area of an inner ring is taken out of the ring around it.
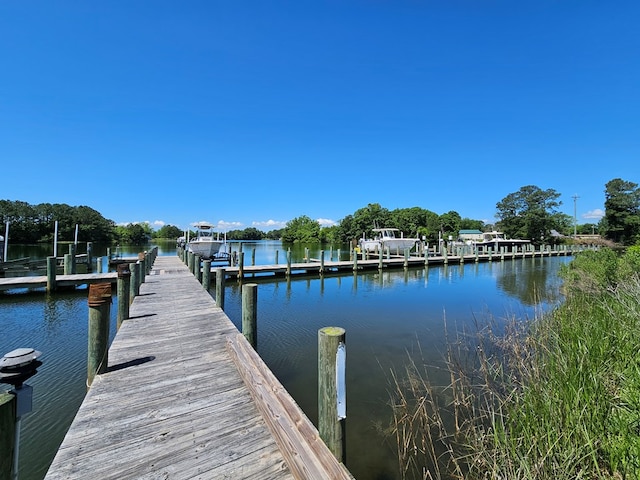
{"label": "large rounded tree standing just left of the utility pole", "polygon": [[549,241],[551,230],[562,230],[557,208],[560,194],[527,185],[496,204],[499,228],[509,238],[529,239],[534,244]]}

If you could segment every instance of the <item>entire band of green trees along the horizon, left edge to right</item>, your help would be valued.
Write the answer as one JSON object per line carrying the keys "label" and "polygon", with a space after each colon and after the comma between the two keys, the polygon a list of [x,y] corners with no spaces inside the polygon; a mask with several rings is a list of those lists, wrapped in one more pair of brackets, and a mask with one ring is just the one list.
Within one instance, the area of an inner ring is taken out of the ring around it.
{"label": "entire band of green trees along the horizon, left edge to right", "polygon": [[[347,215],[331,227],[321,227],[306,215],[296,217],[280,230],[263,232],[250,227],[230,230],[228,240],[281,239],[285,243],[347,243],[372,235],[376,226],[398,228],[405,236],[415,236],[427,242],[440,238],[454,239],[460,230],[486,231],[497,229],[508,238],[531,240],[534,244],[559,241],[552,232],[565,236],[574,233],[599,233],[604,238],[623,245],[640,243],[640,189],[634,182],[613,179],[605,185],[605,214],[597,224],[576,225],[574,219],[560,212],[560,194],[543,190],[535,185],[523,186],[496,203],[496,222],[485,224],[482,220],[463,218],[456,211],[437,214],[421,207],[388,210],[378,203]],[[104,243],[119,242],[126,245],[142,245],[151,239],[177,239],[183,231],[173,225],[154,230],[147,223],[116,225],[98,211],[87,207],[66,204],[41,203],[30,205],[22,201],[0,200],[0,223],[10,222],[10,236],[16,243],[51,242],[54,222],[58,222],[58,238],[72,240],[78,225],[78,235],[83,241]],[[195,232],[190,232],[190,236]]]}

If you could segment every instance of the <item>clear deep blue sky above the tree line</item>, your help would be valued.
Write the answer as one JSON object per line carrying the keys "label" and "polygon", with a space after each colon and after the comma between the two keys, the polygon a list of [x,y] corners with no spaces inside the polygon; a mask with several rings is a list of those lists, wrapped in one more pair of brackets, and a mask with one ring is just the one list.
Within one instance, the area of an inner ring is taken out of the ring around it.
{"label": "clear deep blue sky above the tree line", "polygon": [[0,199],[268,230],[368,203],[597,222],[640,183],[640,3],[0,2]]}

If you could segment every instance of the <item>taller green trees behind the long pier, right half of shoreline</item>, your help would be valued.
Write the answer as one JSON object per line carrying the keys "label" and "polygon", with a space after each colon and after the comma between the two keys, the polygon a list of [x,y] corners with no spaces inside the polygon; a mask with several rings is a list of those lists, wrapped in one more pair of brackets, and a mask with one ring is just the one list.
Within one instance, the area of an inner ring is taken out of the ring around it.
{"label": "taller green trees behind the long pier, right half of shoreline", "polygon": [[338,225],[320,228],[307,216],[294,218],[282,230],[286,242],[349,242],[361,236],[370,237],[372,229],[400,229],[405,236],[416,236],[427,242],[456,239],[460,230],[496,229],[507,238],[530,240],[533,244],[553,244],[579,234],[598,233],[605,239],[623,245],[640,243],[640,189],[634,182],[613,179],[605,185],[605,214],[598,224],[577,225],[570,215],[560,212],[560,193],[526,185],[496,203],[496,222],[462,218],[456,211],[438,215],[421,207],[388,210],[370,203],[343,218]]}

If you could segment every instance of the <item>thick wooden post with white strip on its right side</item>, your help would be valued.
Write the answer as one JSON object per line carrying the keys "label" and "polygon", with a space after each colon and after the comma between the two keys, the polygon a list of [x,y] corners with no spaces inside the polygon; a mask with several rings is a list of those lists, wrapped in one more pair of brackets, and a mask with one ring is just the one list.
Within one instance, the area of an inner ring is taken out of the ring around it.
{"label": "thick wooden post with white strip on its right side", "polygon": [[318,330],[318,433],[339,462],[345,463],[345,330]]}

